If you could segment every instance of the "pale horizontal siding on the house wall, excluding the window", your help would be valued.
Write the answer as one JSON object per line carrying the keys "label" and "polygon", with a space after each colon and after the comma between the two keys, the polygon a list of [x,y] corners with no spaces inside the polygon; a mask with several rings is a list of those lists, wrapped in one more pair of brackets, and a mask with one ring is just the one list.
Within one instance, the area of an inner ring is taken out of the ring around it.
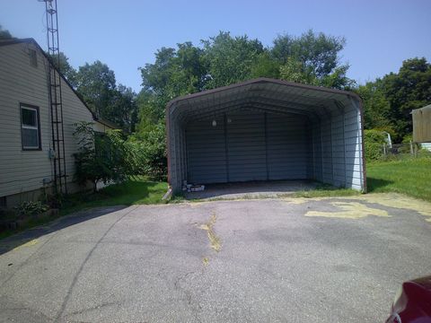
{"label": "pale horizontal siding on the house wall, excluding the window", "polygon": [[[30,65],[29,49],[37,51],[38,66]],[[0,196],[9,196],[42,187],[52,179],[48,157],[52,146],[48,102],[48,61],[31,43],[0,47]],[[91,112],[62,80],[66,149],[66,174],[73,180],[72,154],[76,152],[73,124],[92,121]],[[40,151],[22,151],[20,102],[40,109]]]}

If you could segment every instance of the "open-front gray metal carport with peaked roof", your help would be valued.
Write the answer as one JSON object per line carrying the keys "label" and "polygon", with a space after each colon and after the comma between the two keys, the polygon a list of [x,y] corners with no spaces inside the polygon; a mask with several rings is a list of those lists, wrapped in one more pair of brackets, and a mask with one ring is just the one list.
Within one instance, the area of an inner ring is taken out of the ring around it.
{"label": "open-front gray metal carport with peaked roof", "polygon": [[259,78],[172,100],[168,181],[312,179],[366,190],[362,102],[352,92]]}

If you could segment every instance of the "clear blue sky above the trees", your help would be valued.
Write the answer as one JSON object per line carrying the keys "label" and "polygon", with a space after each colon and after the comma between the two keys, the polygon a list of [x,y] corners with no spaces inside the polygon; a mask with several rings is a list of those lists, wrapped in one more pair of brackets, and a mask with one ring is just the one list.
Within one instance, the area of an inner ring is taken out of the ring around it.
{"label": "clear blue sky above the trees", "polygon": [[[343,36],[341,62],[358,83],[397,72],[402,61],[431,61],[431,0],[57,0],[60,50],[77,68],[101,60],[117,83],[141,88],[138,67],[162,47],[230,31],[271,46],[278,34],[312,29]],[[0,24],[47,48],[45,4],[0,0]]]}

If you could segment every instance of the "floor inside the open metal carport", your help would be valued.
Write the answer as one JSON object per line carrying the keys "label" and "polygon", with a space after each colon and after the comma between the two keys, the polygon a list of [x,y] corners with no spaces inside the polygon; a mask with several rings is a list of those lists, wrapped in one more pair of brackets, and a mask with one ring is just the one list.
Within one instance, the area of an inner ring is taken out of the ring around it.
{"label": "floor inside the open metal carport", "polygon": [[259,180],[237,183],[208,184],[204,191],[189,192],[187,199],[234,199],[277,197],[316,187],[310,180]]}

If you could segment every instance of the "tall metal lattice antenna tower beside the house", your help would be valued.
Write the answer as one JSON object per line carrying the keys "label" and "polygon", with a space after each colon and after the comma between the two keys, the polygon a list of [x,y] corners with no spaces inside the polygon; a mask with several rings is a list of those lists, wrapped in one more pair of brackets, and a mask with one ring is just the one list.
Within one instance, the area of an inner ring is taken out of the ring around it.
{"label": "tall metal lattice antenna tower beside the house", "polygon": [[58,41],[57,0],[39,0],[45,3],[47,16],[48,92],[51,115],[52,150],[54,162],[54,188],[56,193],[67,194],[65,129],[63,127],[63,100],[61,93],[60,50]]}

